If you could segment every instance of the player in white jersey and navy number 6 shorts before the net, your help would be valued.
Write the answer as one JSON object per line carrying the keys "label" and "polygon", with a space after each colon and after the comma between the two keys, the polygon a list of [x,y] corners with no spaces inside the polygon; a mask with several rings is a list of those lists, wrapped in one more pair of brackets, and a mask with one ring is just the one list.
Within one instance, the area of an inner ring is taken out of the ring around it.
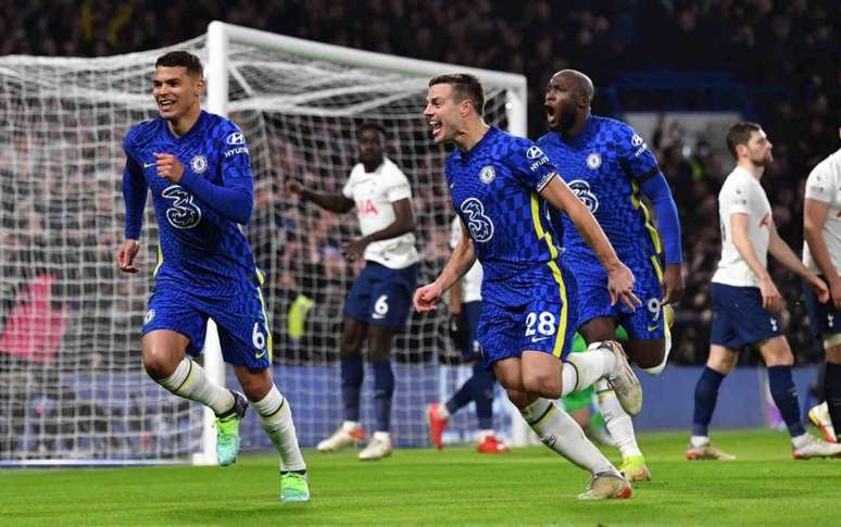
{"label": "player in white jersey and navy number 6 shorts before the net", "polygon": [[338,451],[365,438],[360,424],[362,344],[367,339],[374,368],[376,431],[360,460],[379,460],[391,454],[391,342],[405,327],[416,287],[417,250],[412,214],[412,189],[401,170],[385,156],[386,130],[363,124],[359,130],[360,162],[351,170],[341,193],[319,193],[290,183],[288,190],[330,212],[346,213],[356,206],[362,238],[344,244],[349,260],[365,259],[344,303],[341,337],[341,397],[344,422],[318,443],[323,452]]}

